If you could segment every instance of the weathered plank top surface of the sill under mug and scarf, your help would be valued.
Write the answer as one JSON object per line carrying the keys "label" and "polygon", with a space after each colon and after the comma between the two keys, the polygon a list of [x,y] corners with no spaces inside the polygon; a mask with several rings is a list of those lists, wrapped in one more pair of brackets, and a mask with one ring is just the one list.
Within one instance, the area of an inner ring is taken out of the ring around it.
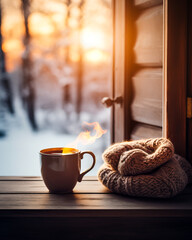
{"label": "weathered plank top surface of the sill under mug and scarf", "polygon": [[[84,180],[72,193],[50,194],[41,178],[0,179],[1,210],[192,210],[192,189],[172,199],[134,198],[110,193],[99,181]],[[187,200],[187,201],[186,201]]]}

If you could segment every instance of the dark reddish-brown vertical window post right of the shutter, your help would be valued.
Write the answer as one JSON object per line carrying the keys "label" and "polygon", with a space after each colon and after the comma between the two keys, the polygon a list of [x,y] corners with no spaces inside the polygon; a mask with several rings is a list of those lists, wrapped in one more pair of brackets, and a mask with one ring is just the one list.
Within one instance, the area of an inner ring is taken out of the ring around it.
{"label": "dark reddish-brown vertical window post right of the shutter", "polygon": [[[186,156],[187,0],[165,0],[164,136]],[[178,17],[179,16],[179,17]],[[181,44],[182,43],[182,44]]]}

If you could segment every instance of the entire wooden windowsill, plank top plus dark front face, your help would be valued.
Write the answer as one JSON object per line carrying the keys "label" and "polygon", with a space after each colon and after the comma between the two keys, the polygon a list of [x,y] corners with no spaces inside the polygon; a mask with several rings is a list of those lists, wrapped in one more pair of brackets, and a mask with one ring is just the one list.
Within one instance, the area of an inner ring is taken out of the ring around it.
{"label": "entire wooden windowsill, plank top plus dark front face", "polygon": [[[116,237],[119,231],[122,236],[134,234],[134,239],[140,239],[142,232],[136,230],[138,223],[142,231],[146,231],[148,224],[154,229],[152,232],[159,231],[156,239],[162,237],[163,224],[163,229],[170,231],[177,239],[181,234],[183,236],[183,229],[184,233],[192,234],[191,222],[191,186],[171,199],[148,199],[112,194],[96,177],[85,177],[76,185],[74,192],[69,194],[50,194],[40,177],[0,177],[0,236],[4,234],[2,239],[12,239],[6,238],[6,234],[9,236],[13,232],[15,234],[15,231],[20,236],[31,227],[38,232],[41,239],[46,235],[45,228],[48,237],[49,231],[57,229],[59,233],[65,227],[76,229],[73,233],[67,233],[67,236],[74,237],[69,239],[76,239],[79,231],[89,236],[93,230],[95,235],[90,235],[90,239],[98,239],[104,232],[106,239],[118,239]],[[175,224],[176,229],[170,228],[170,224]],[[10,228],[13,231],[8,231]],[[116,229],[117,232],[111,236],[109,229],[112,232]],[[31,236],[34,237],[33,234]],[[37,237],[37,234],[35,236]],[[146,236],[148,239],[154,237],[150,231]]]}

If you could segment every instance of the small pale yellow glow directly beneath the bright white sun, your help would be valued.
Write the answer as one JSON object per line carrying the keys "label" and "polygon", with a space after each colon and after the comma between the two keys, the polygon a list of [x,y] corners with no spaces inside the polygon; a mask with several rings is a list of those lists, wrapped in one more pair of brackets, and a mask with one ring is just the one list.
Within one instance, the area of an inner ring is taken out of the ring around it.
{"label": "small pale yellow glow directly beneath the bright white sun", "polygon": [[85,60],[87,62],[105,62],[108,60],[108,55],[99,49],[93,49],[85,53]]}

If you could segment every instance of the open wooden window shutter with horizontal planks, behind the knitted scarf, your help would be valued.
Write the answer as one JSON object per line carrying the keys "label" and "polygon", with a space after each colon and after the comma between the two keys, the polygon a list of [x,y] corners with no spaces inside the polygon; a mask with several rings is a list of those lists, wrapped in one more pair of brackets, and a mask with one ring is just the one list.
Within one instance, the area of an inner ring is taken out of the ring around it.
{"label": "open wooden window shutter with horizontal planks, behind the knitted scarf", "polygon": [[114,0],[113,141],[162,136],[163,1]]}

